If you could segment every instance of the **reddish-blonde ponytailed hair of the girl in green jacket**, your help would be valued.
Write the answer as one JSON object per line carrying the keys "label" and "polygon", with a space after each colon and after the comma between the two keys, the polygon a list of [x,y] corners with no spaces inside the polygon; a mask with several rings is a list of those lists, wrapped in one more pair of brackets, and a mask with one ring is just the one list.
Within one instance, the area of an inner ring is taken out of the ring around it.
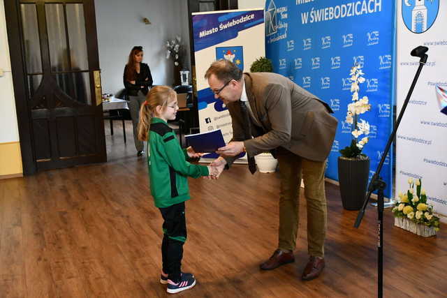
{"label": "reddish-blonde ponytailed hair of the girl in green jacket", "polygon": [[168,86],[155,86],[146,96],[146,100],[140,107],[140,121],[138,122],[138,140],[149,139],[149,127],[151,118],[156,113],[156,107],[166,107],[170,100],[175,100],[177,93]]}

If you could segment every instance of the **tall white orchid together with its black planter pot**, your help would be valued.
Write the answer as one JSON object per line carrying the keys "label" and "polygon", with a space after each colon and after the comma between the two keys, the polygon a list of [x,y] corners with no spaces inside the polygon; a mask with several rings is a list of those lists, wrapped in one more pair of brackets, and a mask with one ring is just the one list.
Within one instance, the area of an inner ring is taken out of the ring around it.
{"label": "tall white orchid together with its black planter pot", "polygon": [[368,137],[360,137],[369,134],[369,123],[359,118],[371,110],[368,97],[360,98],[360,84],[365,82],[362,67],[358,64],[351,68],[351,93],[352,103],[348,105],[346,112],[346,123],[351,124],[351,144],[340,150],[342,156],[338,158],[338,178],[340,195],[344,209],[358,210],[362,207],[363,199],[367,189],[369,177],[369,158],[362,153],[362,149],[368,142]]}

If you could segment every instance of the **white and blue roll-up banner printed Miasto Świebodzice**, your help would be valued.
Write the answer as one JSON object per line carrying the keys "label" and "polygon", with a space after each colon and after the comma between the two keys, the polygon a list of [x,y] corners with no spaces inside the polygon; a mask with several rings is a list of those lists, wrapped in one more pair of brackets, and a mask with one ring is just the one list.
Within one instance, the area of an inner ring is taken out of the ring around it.
{"label": "white and blue roll-up banner printed Miasto \u015awiebodzice", "polygon": [[192,15],[200,132],[221,129],[223,139],[228,143],[233,136],[230,113],[220,99],[214,98],[204,75],[210,64],[219,59],[232,61],[247,72],[256,59],[265,56],[264,9]]}

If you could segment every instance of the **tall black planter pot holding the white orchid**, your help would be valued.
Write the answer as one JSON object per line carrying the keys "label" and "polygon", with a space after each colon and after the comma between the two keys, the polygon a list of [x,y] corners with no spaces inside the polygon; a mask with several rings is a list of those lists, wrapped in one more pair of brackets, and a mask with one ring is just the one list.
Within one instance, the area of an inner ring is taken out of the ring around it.
{"label": "tall black planter pot holding the white orchid", "polygon": [[369,177],[369,158],[338,158],[338,179],[343,208],[359,210],[365,200]]}

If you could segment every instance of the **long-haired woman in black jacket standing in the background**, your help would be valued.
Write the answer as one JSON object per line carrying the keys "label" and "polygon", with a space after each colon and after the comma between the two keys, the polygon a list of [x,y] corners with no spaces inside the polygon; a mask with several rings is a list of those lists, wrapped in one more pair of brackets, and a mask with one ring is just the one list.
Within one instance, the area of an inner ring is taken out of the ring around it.
{"label": "long-haired woman in black jacket standing in the background", "polygon": [[149,87],[152,87],[153,83],[151,70],[147,64],[142,63],[142,57],[142,47],[133,47],[123,75],[124,87],[129,96],[129,111],[132,118],[133,141],[135,142],[135,149],[137,149],[137,156],[144,154],[144,144],[138,140],[138,113],[141,104],[145,102]]}

